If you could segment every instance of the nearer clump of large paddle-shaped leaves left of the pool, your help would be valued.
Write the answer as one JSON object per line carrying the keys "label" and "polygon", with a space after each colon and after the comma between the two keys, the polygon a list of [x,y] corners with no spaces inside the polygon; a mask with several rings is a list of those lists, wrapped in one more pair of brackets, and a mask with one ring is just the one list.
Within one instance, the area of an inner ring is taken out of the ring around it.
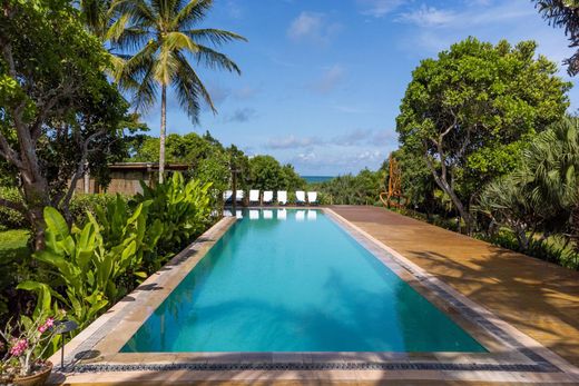
{"label": "nearer clump of large paddle-shaped leaves left of the pool", "polygon": [[[100,225],[92,215],[82,227],[71,229],[62,215],[52,207],[45,208],[46,248],[33,257],[55,275],[50,296],[70,310],[80,327],[86,326],[108,305],[125,295],[119,288],[122,276],[140,267],[146,229],[146,204],[130,214],[120,196],[107,209],[97,210]],[[23,281],[18,288],[38,289],[43,283]],[[43,300],[45,307],[50,299]]]}

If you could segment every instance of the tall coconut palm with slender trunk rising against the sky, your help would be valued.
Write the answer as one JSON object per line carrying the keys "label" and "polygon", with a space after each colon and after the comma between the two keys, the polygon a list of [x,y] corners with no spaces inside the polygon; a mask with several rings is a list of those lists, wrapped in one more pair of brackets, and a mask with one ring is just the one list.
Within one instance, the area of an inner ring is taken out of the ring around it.
{"label": "tall coconut palm with slender trunk rising against the sky", "polygon": [[200,98],[217,111],[190,61],[241,75],[235,62],[207,44],[246,39],[229,31],[196,28],[212,7],[213,0],[115,0],[111,6],[115,21],[107,39],[128,56],[117,81],[134,92],[134,106],[141,111],[155,105],[160,86],[159,182],[165,172],[167,88],[173,87],[179,105],[197,123]]}

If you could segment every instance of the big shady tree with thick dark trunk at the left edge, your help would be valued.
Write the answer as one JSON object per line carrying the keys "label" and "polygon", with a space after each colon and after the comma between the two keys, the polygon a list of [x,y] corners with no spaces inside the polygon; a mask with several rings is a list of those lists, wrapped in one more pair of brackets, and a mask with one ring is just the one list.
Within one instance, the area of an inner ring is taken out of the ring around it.
{"label": "big shady tree with thick dark trunk at the left edge", "polygon": [[107,81],[108,55],[69,1],[0,8],[0,170],[22,195],[0,205],[27,217],[40,248],[43,208],[67,214],[87,168],[105,175],[121,156],[128,103]]}

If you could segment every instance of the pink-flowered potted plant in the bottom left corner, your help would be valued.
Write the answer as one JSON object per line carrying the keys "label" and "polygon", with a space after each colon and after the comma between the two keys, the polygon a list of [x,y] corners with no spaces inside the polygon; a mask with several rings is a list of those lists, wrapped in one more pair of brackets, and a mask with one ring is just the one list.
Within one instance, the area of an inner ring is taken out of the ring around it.
{"label": "pink-flowered potted plant in the bottom left corner", "polygon": [[47,368],[42,359],[55,337],[53,317],[31,319],[26,316],[17,323],[8,323],[0,330],[0,380],[24,377]]}

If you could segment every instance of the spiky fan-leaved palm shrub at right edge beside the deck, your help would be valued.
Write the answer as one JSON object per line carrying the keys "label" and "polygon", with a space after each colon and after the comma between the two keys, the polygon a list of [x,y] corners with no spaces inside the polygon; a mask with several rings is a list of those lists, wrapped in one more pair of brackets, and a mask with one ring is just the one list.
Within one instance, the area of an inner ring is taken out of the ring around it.
{"label": "spiky fan-leaved palm shrub at right edge beside the deck", "polygon": [[485,187],[478,209],[527,250],[552,234],[569,235],[578,204],[579,121],[567,118],[534,138],[516,171]]}

